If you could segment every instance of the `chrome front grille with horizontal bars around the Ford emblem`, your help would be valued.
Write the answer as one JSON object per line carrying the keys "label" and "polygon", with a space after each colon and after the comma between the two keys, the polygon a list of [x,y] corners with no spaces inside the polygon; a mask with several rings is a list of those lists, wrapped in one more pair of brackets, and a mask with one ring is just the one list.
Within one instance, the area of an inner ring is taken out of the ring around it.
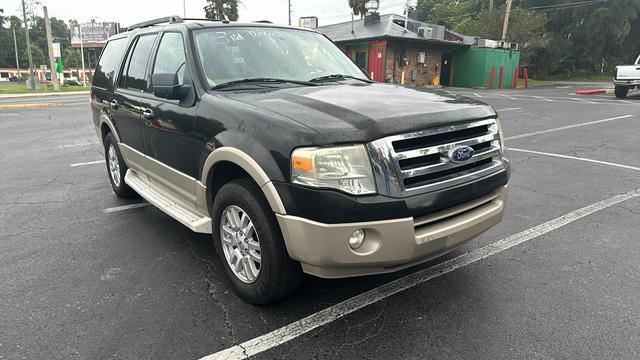
{"label": "chrome front grille with horizontal bars around the Ford emblem", "polygon": [[[457,163],[449,152],[470,146],[474,155]],[[395,197],[472,181],[502,168],[502,148],[495,119],[426,129],[368,144],[378,192]]]}

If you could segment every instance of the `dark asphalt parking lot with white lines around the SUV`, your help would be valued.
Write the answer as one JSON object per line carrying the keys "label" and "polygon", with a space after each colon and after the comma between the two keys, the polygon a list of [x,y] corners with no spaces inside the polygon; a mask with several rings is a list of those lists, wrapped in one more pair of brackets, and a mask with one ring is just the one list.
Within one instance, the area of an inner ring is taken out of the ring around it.
{"label": "dark asphalt parking lot with white lines around the SUV", "polygon": [[499,112],[504,221],[400,273],[247,305],[209,236],[111,191],[88,95],[0,110],[2,359],[633,359],[640,95],[454,92]]}

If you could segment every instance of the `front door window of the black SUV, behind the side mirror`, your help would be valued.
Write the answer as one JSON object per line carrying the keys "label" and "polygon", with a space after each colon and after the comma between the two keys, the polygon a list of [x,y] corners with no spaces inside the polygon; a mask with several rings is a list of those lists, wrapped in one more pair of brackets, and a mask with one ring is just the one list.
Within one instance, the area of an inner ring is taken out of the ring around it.
{"label": "front door window of the black SUV, behind the side mirror", "polygon": [[184,42],[179,33],[166,33],[162,36],[153,74],[178,74],[178,83],[184,85],[186,57]]}

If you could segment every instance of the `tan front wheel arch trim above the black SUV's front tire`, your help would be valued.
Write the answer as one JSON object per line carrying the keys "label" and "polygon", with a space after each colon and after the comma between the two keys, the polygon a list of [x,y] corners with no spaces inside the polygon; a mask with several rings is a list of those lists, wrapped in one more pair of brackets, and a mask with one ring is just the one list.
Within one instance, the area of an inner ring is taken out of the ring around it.
{"label": "tan front wheel arch trim above the black SUV's front tire", "polygon": [[[286,214],[282,199],[267,173],[251,156],[233,147],[215,149],[204,162],[201,183],[206,187],[206,206],[209,212],[216,192],[226,182],[238,178],[238,172],[246,174],[258,185],[274,213]],[[216,183],[216,176],[223,177],[224,181]]]}

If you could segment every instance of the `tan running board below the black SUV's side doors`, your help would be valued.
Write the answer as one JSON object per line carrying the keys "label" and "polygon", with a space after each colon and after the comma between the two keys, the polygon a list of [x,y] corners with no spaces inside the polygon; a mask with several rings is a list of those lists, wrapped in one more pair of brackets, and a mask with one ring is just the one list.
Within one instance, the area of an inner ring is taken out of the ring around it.
{"label": "tan running board below the black SUV's side doors", "polygon": [[151,182],[146,175],[129,169],[124,177],[124,182],[149,203],[189,229],[199,233],[211,234],[210,217],[200,213],[194,205],[180,200],[162,185]]}

